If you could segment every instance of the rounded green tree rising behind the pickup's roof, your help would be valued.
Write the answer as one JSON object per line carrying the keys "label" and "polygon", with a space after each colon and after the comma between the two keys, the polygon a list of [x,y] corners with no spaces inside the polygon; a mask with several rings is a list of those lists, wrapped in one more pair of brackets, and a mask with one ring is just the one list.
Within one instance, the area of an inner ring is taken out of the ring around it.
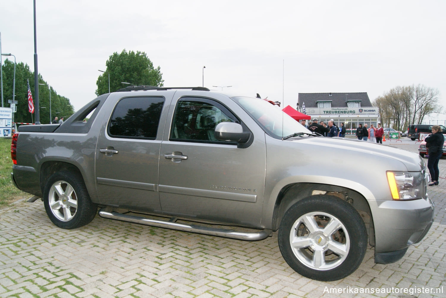
{"label": "rounded green tree rising behind the pickup's roof", "polygon": [[96,81],[96,95],[108,93],[108,75],[110,75],[110,91],[126,87],[121,82],[133,85],[163,86],[161,69],[153,67],[152,61],[144,52],[127,51],[113,53],[105,63],[106,73],[99,75]]}

